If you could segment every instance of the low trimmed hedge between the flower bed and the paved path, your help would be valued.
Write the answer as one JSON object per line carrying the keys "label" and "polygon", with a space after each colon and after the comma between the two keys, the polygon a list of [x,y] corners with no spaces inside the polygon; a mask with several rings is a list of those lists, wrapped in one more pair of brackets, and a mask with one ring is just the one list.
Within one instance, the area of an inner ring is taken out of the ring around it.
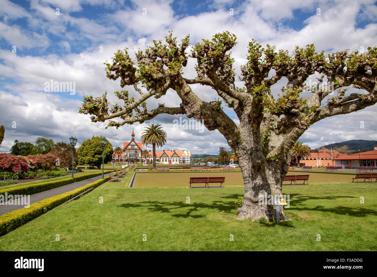
{"label": "low trimmed hedge between the flower bed and the paved path", "polygon": [[[105,174],[111,173],[113,170],[107,170],[104,171]],[[3,190],[0,190],[0,195],[5,193],[9,194],[35,194],[35,193],[40,193],[42,191],[46,190],[51,190],[52,188],[57,188],[61,187],[64,185],[72,184],[74,182],[78,181],[83,181],[85,179],[89,179],[95,176],[102,175],[102,172],[96,172],[96,173],[88,173],[88,174],[83,174],[80,176],[74,176],[74,178],[67,178],[63,180],[58,180],[58,181],[51,181],[51,182],[44,182],[44,183],[37,183],[37,184],[30,184],[30,185],[24,185],[24,186],[19,186],[19,187],[14,187],[14,188],[6,188]]]}

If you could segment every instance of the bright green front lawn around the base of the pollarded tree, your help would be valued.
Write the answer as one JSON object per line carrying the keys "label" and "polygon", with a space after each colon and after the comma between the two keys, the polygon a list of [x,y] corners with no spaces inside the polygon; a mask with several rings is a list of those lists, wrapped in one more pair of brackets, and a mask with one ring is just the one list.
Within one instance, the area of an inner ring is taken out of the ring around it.
{"label": "bright green front lawn around the base of the pollarded tree", "polygon": [[243,186],[128,188],[132,174],[0,237],[0,250],[377,250],[375,183],[285,186],[292,220],[277,225],[238,219]]}

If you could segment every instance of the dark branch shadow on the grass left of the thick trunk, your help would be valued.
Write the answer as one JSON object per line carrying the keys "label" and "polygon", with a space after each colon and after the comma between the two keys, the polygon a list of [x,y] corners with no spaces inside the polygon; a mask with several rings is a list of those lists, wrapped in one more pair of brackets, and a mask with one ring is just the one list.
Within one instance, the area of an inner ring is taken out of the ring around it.
{"label": "dark branch shadow on the grass left of the thick trunk", "polygon": [[196,202],[191,204],[186,204],[185,202],[162,202],[162,201],[144,201],[139,203],[127,203],[121,204],[119,207],[123,208],[147,208],[150,211],[160,212],[160,213],[172,213],[176,209],[185,209],[186,213],[176,213],[172,216],[174,217],[192,217],[199,218],[204,217],[204,214],[192,214],[194,212],[202,213],[202,209],[213,209],[219,212],[230,213],[231,211],[236,214],[233,201],[212,201],[212,203],[202,203]]}

